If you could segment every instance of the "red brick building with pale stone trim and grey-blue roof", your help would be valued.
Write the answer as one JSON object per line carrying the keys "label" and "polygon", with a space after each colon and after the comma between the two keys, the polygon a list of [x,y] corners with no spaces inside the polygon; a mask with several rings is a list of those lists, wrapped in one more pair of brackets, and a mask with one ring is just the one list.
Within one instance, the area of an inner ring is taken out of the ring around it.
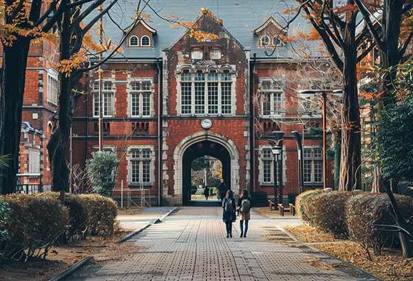
{"label": "red brick building with pale stone trim and grey-blue roof", "polygon": [[[201,5],[210,5],[210,10],[216,7],[216,16],[207,9],[200,13]],[[266,12],[260,10],[258,14],[260,5],[268,6]],[[277,178],[268,144],[274,139],[273,131],[285,132],[284,203],[288,194],[299,193],[293,131],[304,139],[304,190],[322,188],[322,138],[306,131],[308,126],[319,126],[321,116],[308,115],[304,116],[306,122],[289,122],[298,120],[297,115],[285,108],[297,108],[297,102],[269,72],[275,67],[295,67],[288,43],[278,36],[288,35],[290,30],[281,32],[281,19],[268,16],[279,10],[276,3],[238,5],[225,1],[217,7],[216,1],[193,1],[191,5],[186,1],[156,1],[152,8],[160,11],[161,18],[165,14],[170,19],[167,15],[173,14],[179,19],[193,19],[193,32],[173,28],[158,16],[152,16],[151,21],[140,20],[133,27],[129,16],[133,9],[126,4],[118,7],[122,10],[118,10],[118,23],[129,27],[116,30],[108,21],[105,30],[113,42],[130,31],[124,52],[107,60],[101,81],[97,74],[86,77],[89,87],[74,113],[72,151],[67,159],[72,157],[73,164],[84,166],[98,150],[101,105],[103,149],[123,155],[114,191],[118,200],[122,187],[125,192],[147,190],[145,198],[152,205],[187,203],[191,162],[203,155],[221,161],[222,177],[235,194],[246,188],[266,192],[271,199]],[[304,25],[297,23],[294,28]],[[211,37],[199,41],[195,39],[199,31]],[[275,46],[277,51],[268,54]],[[23,120],[43,131],[43,142],[52,131],[52,113],[56,110],[56,101],[49,98],[54,96],[54,77],[52,69],[32,71],[28,76],[28,83],[32,83],[28,96],[33,100],[25,99],[28,111],[23,113]],[[298,84],[291,87],[300,89]],[[43,155],[44,182],[49,179],[45,177],[47,155]],[[328,187],[332,187],[331,164],[329,161]]]}

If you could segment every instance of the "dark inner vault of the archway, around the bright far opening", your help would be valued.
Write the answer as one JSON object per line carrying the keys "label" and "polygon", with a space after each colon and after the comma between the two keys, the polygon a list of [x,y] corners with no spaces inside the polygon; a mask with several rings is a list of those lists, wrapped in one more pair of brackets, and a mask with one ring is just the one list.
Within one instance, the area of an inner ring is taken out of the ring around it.
{"label": "dark inner vault of the archway, around the bright far opening", "polygon": [[209,155],[222,163],[222,179],[231,188],[231,155],[229,151],[211,140],[203,140],[189,146],[182,157],[182,196],[183,205],[188,205],[191,199],[191,164],[198,157]]}

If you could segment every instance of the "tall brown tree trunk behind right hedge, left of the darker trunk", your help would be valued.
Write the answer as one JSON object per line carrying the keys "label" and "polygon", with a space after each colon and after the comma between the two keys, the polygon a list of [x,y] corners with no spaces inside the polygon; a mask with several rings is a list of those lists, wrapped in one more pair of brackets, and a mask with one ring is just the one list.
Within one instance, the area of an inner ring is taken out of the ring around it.
{"label": "tall brown tree trunk behind right hedge, left of the darker trunk", "polygon": [[[354,4],[354,3],[353,3]],[[343,34],[343,113],[341,131],[341,191],[361,190],[361,126],[357,91],[357,50],[355,44],[355,16],[348,15]]]}

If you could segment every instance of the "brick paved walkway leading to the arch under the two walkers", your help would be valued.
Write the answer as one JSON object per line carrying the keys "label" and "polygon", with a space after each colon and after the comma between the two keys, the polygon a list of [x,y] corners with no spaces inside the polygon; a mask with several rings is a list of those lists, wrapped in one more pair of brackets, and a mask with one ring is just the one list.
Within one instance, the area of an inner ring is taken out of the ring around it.
{"label": "brick paved walkway leading to the arch under the two walkers", "polygon": [[88,278],[69,280],[366,280],[300,262],[323,255],[268,240],[263,235],[277,232],[277,219],[254,213],[247,238],[239,237],[238,221],[234,238],[226,238],[221,217],[219,206],[178,207],[127,242],[146,247],[132,260],[89,269]]}

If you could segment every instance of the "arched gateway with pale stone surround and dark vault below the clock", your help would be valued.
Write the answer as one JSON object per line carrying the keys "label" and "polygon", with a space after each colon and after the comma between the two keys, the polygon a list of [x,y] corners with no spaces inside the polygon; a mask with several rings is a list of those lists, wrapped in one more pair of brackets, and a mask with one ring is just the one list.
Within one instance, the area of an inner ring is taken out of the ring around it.
{"label": "arched gateway with pale stone surround and dark vault below the clock", "polygon": [[[238,194],[240,189],[240,153],[234,142],[213,131],[200,131],[182,139],[173,152],[174,198],[182,196],[182,204],[191,196],[191,163],[203,155],[211,155],[222,162],[222,177],[228,188]],[[167,194],[168,190],[163,190]],[[164,195],[168,200],[169,196]],[[177,202],[176,200],[174,200]]]}

